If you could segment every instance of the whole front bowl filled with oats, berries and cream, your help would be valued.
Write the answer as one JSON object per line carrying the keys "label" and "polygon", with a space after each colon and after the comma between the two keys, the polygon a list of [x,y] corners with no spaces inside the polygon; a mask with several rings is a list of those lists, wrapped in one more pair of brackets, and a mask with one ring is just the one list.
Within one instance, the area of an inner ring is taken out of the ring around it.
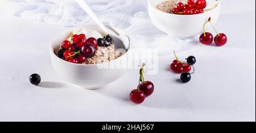
{"label": "whole front bowl filled with oats, berries and cream", "polygon": [[117,65],[127,62],[130,38],[121,29],[109,29],[128,39],[115,35],[111,30],[109,35],[105,35],[97,25],[72,28],[53,38],[50,55],[57,74],[86,89],[105,87],[125,74],[126,68]]}

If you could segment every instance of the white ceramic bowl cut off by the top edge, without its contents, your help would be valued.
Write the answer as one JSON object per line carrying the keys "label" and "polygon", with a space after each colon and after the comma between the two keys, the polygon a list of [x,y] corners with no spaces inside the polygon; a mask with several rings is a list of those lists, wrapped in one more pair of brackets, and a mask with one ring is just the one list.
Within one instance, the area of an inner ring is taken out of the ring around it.
{"label": "white ceramic bowl cut off by the top edge, without its contents", "polygon": [[[156,9],[163,0],[148,0],[148,15],[152,23],[170,36],[187,38],[203,33],[203,25],[209,17],[215,24],[220,16],[221,2],[212,10],[196,15],[176,15]],[[210,28],[208,24],[206,29]]]}

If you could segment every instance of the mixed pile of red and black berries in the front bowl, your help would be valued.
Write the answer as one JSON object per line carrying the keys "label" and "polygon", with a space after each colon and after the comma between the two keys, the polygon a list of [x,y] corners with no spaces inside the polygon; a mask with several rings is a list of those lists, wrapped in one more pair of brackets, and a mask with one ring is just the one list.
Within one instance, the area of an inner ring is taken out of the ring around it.
{"label": "mixed pile of red and black berries in the front bowl", "polygon": [[71,33],[70,38],[70,41],[63,41],[62,49],[57,52],[57,56],[71,63],[83,63],[86,58],[95,55],[98,46],[109,46],[112,43],[109,35],[96,40],[94,37],[87,39],[84,34],[73,35]]}

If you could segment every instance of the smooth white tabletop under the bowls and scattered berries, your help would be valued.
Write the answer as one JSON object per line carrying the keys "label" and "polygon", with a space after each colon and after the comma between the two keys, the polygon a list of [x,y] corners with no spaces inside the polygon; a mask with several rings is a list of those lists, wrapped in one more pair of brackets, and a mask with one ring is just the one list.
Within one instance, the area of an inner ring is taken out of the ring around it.
{"label": "smooth white tabletop under the bowls and scattered berries", "polygon": [[[228,35],[226,46],[195,42],[179,52],[197,57],[188,84],[168,70],[173,55],[160,57],[158,74],[146,75],[154,95],[141,105],[129,100],[138,70],[96,91],[70,85],[53,70],[48,48],[67,28],[1,14],[0,121],[255,121],[255,2],[252,7],[221,15],[216,27]],[[33,73],[42,77],[40,87],[28,81]]]}

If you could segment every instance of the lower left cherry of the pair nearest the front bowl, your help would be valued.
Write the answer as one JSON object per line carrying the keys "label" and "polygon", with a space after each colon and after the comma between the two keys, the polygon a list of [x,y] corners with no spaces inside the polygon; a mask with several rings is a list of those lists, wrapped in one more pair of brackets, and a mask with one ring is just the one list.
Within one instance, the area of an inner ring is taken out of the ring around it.
{"label": "lower left cherry of the pair nearest the front bowl", "polygon": [[130,93],[130,100],[135,104],[141,104],[146,98],[146,95],[143,91],[138,91],[138,89],[134,89]]}

